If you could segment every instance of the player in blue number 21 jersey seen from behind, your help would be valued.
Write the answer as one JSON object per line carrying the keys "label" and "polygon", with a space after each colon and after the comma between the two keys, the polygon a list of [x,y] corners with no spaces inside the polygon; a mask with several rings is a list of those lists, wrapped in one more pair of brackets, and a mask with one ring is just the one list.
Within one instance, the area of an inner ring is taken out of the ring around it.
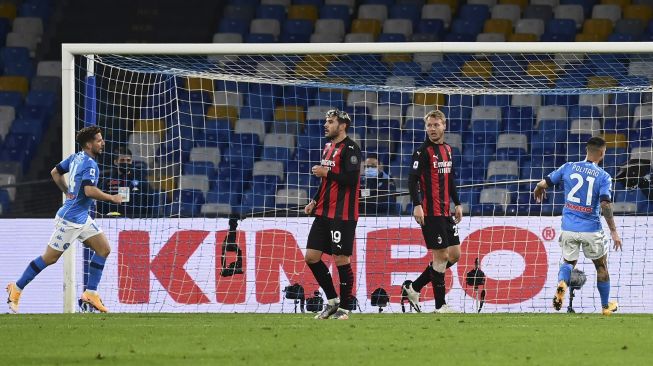
{"label": "player in blue number 21 jersey seen from behind", "polygon": [[614,250],[621,249],[612,210],[612,178],[598,164],[605,156],[606,143],[600,137],[587,141],[585,160],[565,163],[542,179],[533,195],[536,202],[546,197],[546,189],[561,182],[565,187],[565,207],[562,210],[562,233],[560,247],[563,262],[558,272],[558,286],[553,297],[553,308],[560,310],[569,285],[571,271],[578,262],[580,249],[596,267],[596,287],[601,296],[603,315],[617,311],[617,302],[610,299],[610,275],[608,274],[608,240],[603,233],[600,215],[610,229]]}

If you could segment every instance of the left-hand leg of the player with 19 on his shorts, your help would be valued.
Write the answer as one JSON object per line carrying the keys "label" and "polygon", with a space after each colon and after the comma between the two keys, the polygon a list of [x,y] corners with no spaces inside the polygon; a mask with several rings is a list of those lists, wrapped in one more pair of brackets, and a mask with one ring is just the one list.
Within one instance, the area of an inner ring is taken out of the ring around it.
{"label": "left-hand leg of the player with 19 on his shorts", "polygon": [[327,306],[324,311],[316,316],[316,319],[330,317],[338,310],[338,305],[340,304],[336,288],[333,286],[331,273],[329,273],[329,268],[322,261],[322,253],[325,251],[331,254],[331,233],[329,232],[329,225],[325,219],[316,217],[313,220],[311,231],[308,234],[306,255],[304,256],[308,268],[313,272],[313,277],[315,277],[315,280],[327,297]]}

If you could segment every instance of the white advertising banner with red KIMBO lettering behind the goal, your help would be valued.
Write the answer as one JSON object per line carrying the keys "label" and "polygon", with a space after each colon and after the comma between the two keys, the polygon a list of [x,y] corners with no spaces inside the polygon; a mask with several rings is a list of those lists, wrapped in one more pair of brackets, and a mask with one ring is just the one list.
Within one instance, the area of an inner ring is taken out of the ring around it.
{"label": "white advertising banner with red KIMBO lettering behind the goal", "polygon": [[[611,249],[609,254],[611,298],[619,301],[620,311],[651,312],[653,239],[648,217],[616,220],[624,248],[622,252]],[[318,290],[303,260],[311,222],[311,218],[240,222],[237,244],[242,273],[233,274],[229,264],[236,261],[237,252],[223,255],[226,219],[98,220],[112,246],[99,291],[112,312],[294,312],[293,300],[284,298],[286,286],[302,285],[306,297]],[[0,220],[0,283],[17,280],[29,262],[43,253],[52,228],[52,220]],[[474,312],[475,297],[485,290],[482,312],[553,312],[559,233],[559,217],[465,218],[459,225],[461,258],[446,274],[447,302],[460,311]],[[77,253],[81,294],[82,250]],[[466,278],[477,259],[486,278],[475,292]],[[361,218],[352,257],[360,309],[377,312],[371,294],[383,288],[390,296],[384,312],[401,312],[402,283],[414,280],[429,261],[422,232],[412,218]],[[573,309],[597,312],[600,299],[594,266],[581,255],[577,268],[586,273],[587,283],[575,291]],[[21,312],[61,312],[62,272],[62,264],[57,263],[29,284],[20,301]],[[338,290],[335,266],[331,273]],[[434,309],[430,285],[422,290],[422,300],[425,311]]]}

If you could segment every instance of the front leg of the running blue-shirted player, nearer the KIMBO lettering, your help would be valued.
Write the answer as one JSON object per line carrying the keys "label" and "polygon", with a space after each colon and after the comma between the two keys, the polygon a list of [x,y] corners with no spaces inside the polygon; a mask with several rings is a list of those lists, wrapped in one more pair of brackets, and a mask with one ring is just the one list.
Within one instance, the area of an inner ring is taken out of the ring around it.
{"label": "front leg of the running blue-shirted player, nearer the KIMBO lettering", "polygon": [[102,303],[97,288],[102,279],[104,264],[111,253],[109,240],[90,218],[80,234],[80,240],[95,252],[88,264],[88,283],[86,284],[86,291],[82,294],[82,301],[90,303],[99,311],[106,313],[108,309]]}

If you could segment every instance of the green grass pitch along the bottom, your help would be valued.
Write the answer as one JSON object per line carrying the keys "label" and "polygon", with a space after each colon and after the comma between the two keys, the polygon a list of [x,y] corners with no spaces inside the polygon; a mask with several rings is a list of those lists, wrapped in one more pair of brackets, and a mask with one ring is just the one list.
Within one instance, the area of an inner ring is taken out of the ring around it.
{"label": "green grass pitch along the bottom", "polygon": [[0,316],[3,365],[649,365],[653,315]]}

